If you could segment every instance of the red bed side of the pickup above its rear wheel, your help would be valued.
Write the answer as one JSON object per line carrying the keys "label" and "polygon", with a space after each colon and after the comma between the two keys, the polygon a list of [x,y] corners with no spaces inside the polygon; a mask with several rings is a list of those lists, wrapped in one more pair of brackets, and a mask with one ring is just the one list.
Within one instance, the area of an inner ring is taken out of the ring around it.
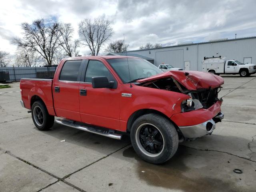
{"label": "red bed side of the pickup above its rear wheel", "polygon": [[[42,98],[49,114],[55,115],[52,97],[53,78],[22,78],[20,91],[25,108],[31,109],[31,102]],[[31,101],[31,102],[30,102]]]}

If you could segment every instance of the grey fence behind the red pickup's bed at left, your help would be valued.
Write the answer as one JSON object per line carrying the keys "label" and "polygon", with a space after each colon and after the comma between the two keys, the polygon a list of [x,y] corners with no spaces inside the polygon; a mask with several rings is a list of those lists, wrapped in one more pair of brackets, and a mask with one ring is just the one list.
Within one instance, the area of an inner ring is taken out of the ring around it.
{"label": "grey fence behind the red pickup's bed at left", "polygon": [[0,67],[0,71],[7,71],[10,80],[19,81],[21,78],[53,77],[56,71],[54,67]]}

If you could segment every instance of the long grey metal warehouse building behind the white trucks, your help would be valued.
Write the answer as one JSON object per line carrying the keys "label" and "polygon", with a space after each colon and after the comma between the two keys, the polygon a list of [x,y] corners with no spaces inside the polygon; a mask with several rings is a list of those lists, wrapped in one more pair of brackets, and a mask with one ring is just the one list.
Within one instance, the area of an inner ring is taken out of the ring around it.
{"label": "long grey metal warehouse building behind the white trucks", "polygon": [[154,59],[154,65],[171,64],[184,70],[202,70],[204,57],[226,57],[241,63],[256,64],[256,36],[211,40],[202,43],[180,44],[162,48],[127,51]]}

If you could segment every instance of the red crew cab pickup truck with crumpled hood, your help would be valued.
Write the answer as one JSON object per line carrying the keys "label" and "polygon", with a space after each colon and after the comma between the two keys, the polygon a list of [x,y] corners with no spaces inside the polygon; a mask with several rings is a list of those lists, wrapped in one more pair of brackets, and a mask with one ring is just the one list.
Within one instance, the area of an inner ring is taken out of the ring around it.
{"label": "red crew cab pickup truck with crumpled hood", "polygon": [[39,130],[50,129],[56,116],[58,124],[101,136],[128,133],[140,158],[159,164],[179,142],[212,134],[224,117],[218,98],[223,83],[206,72],[162,72],[136,57],[68,58],[53,79],[21,79],[21,105]]}

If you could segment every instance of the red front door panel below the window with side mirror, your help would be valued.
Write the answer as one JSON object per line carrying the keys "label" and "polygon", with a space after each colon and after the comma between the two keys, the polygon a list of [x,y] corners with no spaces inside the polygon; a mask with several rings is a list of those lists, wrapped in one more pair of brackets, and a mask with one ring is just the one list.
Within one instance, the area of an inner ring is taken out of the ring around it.
{"label": "red front door panel below the window with side mirror", "polygon": [[120,128],[120,96],[118,89],[92,88],[92,84],[81,83],[86,96],[79,96],[82,122],[106,128]]}

